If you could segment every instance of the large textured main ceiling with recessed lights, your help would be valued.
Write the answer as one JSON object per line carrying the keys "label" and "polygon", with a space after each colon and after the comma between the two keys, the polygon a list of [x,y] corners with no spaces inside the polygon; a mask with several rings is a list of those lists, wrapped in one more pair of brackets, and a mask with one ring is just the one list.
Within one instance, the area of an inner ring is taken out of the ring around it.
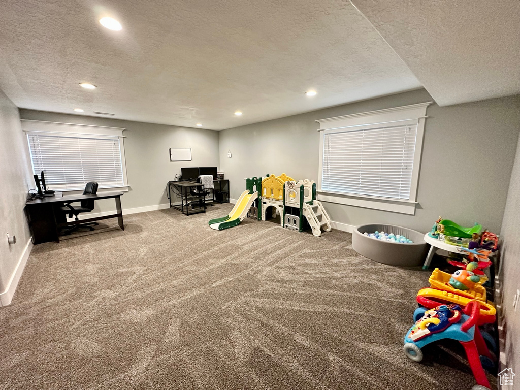
{"label": "large textured main ceiling with recessed lights", "polygon": [[2,0],[0,23],[22,108],[223,129],[421,87],[345,0]]}

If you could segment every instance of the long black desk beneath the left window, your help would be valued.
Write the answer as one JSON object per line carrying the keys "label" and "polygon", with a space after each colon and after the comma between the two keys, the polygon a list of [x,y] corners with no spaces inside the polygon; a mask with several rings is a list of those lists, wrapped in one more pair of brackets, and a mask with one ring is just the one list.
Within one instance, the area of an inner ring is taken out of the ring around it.
{"label": "long black desk beneath the left window", "polygon": [[[25,215],[29,223],[31,231],[31,240],[33,244],[41,244],[42,242],[56,241],[60,242],[60,229],[67,226],[87,224],[102,219],[118,218],[118,224],[121,229],[125,229],[123,224],[123,213],[121,210],[121,195],[123,192],[103,192],[96,195],[66,195],[62,196],[61,192],[56,192],[52,197],[34,199],[25,203]],[[87,218],[79,221],[67,222],[67,215],[61,212],[61,207],[65,203],[79,202],[85,199],[115,199],[116,213],[95,218]]]}

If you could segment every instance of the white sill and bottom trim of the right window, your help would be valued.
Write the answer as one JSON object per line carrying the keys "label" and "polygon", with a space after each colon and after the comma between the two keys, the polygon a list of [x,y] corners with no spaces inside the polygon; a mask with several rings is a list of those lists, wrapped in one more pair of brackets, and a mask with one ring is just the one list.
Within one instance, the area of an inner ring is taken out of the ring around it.
{"label": "white sill and bottom trim of the right window", "polygon": [[392,213],[415,214],[416,202],[391,199],[357,197],[347,194],[317,191],[317,199],[322,202],[346,204],[349,206],[365,207],[366,209],[383,210]]}

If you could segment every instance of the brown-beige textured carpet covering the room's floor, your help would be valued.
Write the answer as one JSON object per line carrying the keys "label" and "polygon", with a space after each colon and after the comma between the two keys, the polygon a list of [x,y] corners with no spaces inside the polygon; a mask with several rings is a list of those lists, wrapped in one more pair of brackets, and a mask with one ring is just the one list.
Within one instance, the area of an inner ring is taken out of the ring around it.
{"label": "brown-beige textured carpet covering the room's floor", "polygon": [[461,348],[426,348],[423,363],[402,352],[427,272],[369,261],[338,230],[207,226],[230,208],[128,215],[125,231],[36,245],[0,308],[0,388],[474,384]]}

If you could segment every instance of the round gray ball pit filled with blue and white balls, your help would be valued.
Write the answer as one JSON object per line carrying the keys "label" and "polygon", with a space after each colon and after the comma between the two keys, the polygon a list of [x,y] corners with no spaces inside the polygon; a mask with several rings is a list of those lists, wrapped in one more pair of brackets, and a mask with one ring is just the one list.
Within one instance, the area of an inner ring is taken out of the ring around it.
{"label": "round gray ball pit filled with blue and white balls", "polygon": [[[365,236],[363,233],[384,231],[395,235],[405,235],[413,244],[383,241]],[[352,233],[352,248],[362,256],[389,265],[414,267],[421,265],[426,258],[428,244],[424,233],[394,225],[370,224],[356,226]]]}

